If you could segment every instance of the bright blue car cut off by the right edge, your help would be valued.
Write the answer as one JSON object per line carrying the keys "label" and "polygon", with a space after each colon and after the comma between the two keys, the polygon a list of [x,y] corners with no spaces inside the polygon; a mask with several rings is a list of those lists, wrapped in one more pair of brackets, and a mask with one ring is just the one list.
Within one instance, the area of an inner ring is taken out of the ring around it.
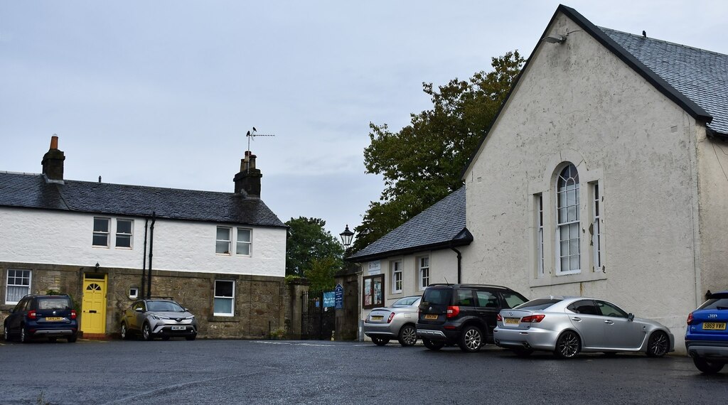
{"label": "bright blue car cut off by the right edge", "polygon": [[685,348],[701,372],[715,374],[728,363],[727,324],[728,291],[709,294],[687,317]]}

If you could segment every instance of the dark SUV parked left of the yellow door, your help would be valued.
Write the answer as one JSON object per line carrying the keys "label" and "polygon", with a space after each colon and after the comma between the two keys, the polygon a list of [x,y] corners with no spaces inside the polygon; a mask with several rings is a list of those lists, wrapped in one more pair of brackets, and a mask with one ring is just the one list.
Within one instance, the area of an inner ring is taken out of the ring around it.
{"label": "dark SUV parked left of the yellow door", "polygon": [[5,340],[17,337],[23,343],[34,337],[76,342],[79,332],[74,302],[68,295],[26,295],[10,310],[3,326]]}

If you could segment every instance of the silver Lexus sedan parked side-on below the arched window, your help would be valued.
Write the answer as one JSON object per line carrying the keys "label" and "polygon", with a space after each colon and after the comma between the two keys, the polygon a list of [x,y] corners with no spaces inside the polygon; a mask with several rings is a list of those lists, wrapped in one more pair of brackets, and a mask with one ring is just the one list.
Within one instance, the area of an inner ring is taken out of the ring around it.
{"label": "silver Lexus sedan parked side-on below the arched window", "polygon": [[674,350],[666,326],[635,318],[612,302],[586,297],[548,297],[501,310],[493,337],[496,345],[528,356],[552,351],[559,358],[580,352],[643,352],[650,357]]}

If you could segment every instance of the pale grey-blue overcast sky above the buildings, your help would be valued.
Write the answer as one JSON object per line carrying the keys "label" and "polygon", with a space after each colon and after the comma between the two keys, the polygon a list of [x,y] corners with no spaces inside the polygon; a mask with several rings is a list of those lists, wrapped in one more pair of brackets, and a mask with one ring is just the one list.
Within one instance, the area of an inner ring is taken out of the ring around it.
{"label": "pale grey-blue overcast sky above the buildings", "polygon": [[[248,149],[280,217],[338,238],[379,199],[370,122],[430,107],[422,82],[528,57],[559,1],[0,0],[0,170],[234,191]],[[728,2],[564,3],[598,26],[728,54]]]}

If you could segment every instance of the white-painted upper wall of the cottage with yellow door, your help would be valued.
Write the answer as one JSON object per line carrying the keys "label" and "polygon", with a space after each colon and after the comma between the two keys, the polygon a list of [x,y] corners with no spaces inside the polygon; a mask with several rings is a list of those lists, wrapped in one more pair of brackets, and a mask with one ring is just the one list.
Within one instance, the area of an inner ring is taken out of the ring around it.
{"label": "white-painted upper wall of the cottage with yellow door", "polygon": [[[108,268],[139,268],[144,260],[143,218],[134,220],[132,249],[115,248],[115,216],[111,247],[93,247],[93,214],[0,207],[0,258],[7,262],[48,263]],[[151,220],[149,221],[151,225]],[[213,222],[160,220],[154,224],[154,270],[285,276],[285,228],[253,229],[250,257],[215,254]],[[151,238],[151,233],[149,234]],[[147,268],[149,268],[149,247]]]}

